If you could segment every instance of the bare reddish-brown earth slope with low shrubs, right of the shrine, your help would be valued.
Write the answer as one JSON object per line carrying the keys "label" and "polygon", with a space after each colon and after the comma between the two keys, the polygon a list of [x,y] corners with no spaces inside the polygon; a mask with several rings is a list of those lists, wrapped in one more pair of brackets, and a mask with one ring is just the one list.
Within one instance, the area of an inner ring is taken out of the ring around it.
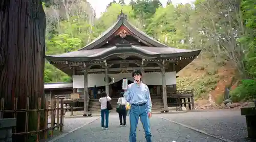
{"label": "bare reddish-brown earth slope with low shrubs, right of the shrine", "polygon": [[225,87],[230,85],[234,68],[200,56],[178,73],[177,89],[194,89],[196,105],[221,104]]}

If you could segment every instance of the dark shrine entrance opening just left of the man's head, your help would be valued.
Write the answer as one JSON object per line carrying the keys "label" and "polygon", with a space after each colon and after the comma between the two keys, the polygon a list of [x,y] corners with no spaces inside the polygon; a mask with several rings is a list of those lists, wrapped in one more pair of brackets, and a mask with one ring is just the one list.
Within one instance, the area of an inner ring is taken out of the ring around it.
{"label": "dark shrine entrance opening just left of the man's head", "polygon": [[[125,78],[123,78],[125,79]],[[132,81],[128,80],[128,84],[133,83]],[[119,98],[120,97],[120,92],[122,92],[122,79],[111,84],[110,85],[110,97],[111,98]]]}

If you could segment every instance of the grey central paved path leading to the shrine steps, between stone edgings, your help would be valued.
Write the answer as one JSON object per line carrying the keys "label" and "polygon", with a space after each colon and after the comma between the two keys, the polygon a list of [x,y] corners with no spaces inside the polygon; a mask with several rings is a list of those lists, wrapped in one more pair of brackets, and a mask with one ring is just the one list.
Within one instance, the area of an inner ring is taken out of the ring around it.
{"label": "grey central paved path leading to the shrine steps, between stone edgings", "polygon": [[[129,118],[128,118],[129,119]],[[129,122],[129,121],[127,121]],[[69,133],[59,139],[56,142],[61,141],[129,141],[129,123],[126,127],[118,127],[119,119],[118,115],[110,116],[110,123],[108,130],[102,130],[100,127],[100,119],[81,127],[80,129]],[[221,141],[214,137],[198,133],[194,130],[185,128],[183,126],[171,123],[169,121],[161,119],[158,115],[153,115],[151,119],[152,127],[152,140],[153,141]],[[137,141],[145,141],[144,130],[139,122],[137,128]]]}

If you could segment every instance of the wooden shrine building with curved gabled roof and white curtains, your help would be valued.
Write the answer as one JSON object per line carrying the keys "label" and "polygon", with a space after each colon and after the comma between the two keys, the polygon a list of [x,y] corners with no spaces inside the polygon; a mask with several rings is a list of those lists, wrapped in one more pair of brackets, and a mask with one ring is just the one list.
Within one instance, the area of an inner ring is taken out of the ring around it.
{"label": "wooden shrine building with curved gabled roof and white curtains", "polygon": [[83,115],[100,112],[100,94],[94,99],[89,88],[96,85],[98,93],[105,91],[113,98],[115,107],[122,91],[122,79],[132,83],[135,69],[142,70],[142,81],[150,88],[152,110],[168,112],[168,107],[180,108],[186,104],[194,109],[193,91],[177,90],[176,74],[200,52],[158,42],[133,26],[121,12],[118,20],[88,45],[78,51],[46,56],[46,59],[72,77],[73,92],[81,94],[75,101],[86,102],[80,107]]}

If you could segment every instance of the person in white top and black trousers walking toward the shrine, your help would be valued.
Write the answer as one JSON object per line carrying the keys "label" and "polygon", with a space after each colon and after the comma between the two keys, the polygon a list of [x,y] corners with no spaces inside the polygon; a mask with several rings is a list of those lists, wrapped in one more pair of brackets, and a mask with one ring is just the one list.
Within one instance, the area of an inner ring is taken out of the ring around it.
{"label": "person in white top and black trousers walking toward the shrine", "polygon": [[127,101],[123,97],[124,92],[121,92],[120,94],[121,94],[121,97],[117,101],[117,104],[119,105],[118,115],[119,115],[119,120],[120,120],[120,127],[125,127],[126,126],[126,104],[127,104]]}

